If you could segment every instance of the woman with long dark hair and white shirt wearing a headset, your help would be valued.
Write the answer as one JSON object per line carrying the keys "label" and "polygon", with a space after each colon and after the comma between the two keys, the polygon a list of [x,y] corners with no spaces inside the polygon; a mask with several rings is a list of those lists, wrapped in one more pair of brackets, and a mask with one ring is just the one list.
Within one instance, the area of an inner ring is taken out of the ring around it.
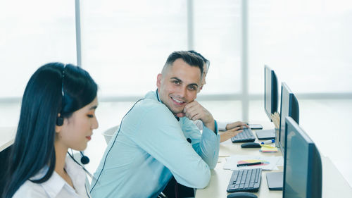
{"label": "woman with long dark hair and white shirt wearing a headset", "polygon": [[97,85],[87,71],[48,63],[23,94],[2,197],[89,197],[84,168],[67,156],[82,151],[98,128]]}

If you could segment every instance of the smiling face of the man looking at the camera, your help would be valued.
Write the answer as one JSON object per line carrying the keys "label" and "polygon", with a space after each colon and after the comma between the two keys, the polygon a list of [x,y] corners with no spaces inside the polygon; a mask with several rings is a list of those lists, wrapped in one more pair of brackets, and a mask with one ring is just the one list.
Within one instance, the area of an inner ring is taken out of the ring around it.
{"label": "smiling face of the man looking at the camera", "polygon": [[182,113],[184,106],[196,99],[200,81],[201,70],[178,58],[163,75],[158,74],[156,86],[159,98],[172,113]]}

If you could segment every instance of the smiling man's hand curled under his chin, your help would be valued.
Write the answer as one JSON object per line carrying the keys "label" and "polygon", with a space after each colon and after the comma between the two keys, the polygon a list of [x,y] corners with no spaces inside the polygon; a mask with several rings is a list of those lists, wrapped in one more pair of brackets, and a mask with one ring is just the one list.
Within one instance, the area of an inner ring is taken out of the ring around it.
{"label": "smiling man's hand curled under his chin", "polygon": [[183,113],[177,113],[178,117],[186,116],[189,120],[201,120],[203,124],[210,130],[215,132],[214,118],[211,113],[206,110],[198,101],[191,101],[184,106]]}

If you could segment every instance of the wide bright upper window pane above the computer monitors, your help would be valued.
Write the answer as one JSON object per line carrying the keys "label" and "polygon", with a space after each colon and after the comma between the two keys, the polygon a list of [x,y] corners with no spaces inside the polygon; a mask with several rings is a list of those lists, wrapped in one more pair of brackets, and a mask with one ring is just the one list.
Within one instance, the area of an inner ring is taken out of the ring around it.
{"label": "wide bright upper window pane above the computer monitors", "polygon": [[250,93],[264,64],[296,93],[352,92],[351,13],[351,1],[249,1]]}

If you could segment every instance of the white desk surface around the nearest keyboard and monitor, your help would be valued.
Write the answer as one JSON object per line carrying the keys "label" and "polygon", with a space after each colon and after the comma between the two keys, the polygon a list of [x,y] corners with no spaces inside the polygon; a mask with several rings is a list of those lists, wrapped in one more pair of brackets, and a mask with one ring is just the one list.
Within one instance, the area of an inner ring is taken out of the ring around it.
{"label": "white desk surface around the nearest keyboard and monitor", "polygon": [[[258,140],[256,140],[258,142]],[[256,155],[256,156],[282,156],[278,151],[277,153],[264,154],[259,149],[242,149],[241,143],[233,144],[228,140],[220,144],[219,161],[214,170],[211,171],[211,178],[208,187],[204,189],[196,190],[196,198],[206,197],[226,197],[227,196],[227,185],[229,184],[232,171],[224,170],[222,167],[225,164],[225,156],[234,154],[240,155]],[[320,154],[322,156],[322,154]],[[283,171],[283,166],[279,166],[279,171]],[[282,190],[273,191],[268,189],[266,181],[266,173],[272,171],[262,171],[262,180],[260,183],[260,189],[254,193],[258,197],[282,197]],[[322,156],[322,197],[324,198],[336,198],[338,197],[351,197],[352,189],[348,185],[348,182],[339,173],[337,168],[334,166],[329,158]]]}

